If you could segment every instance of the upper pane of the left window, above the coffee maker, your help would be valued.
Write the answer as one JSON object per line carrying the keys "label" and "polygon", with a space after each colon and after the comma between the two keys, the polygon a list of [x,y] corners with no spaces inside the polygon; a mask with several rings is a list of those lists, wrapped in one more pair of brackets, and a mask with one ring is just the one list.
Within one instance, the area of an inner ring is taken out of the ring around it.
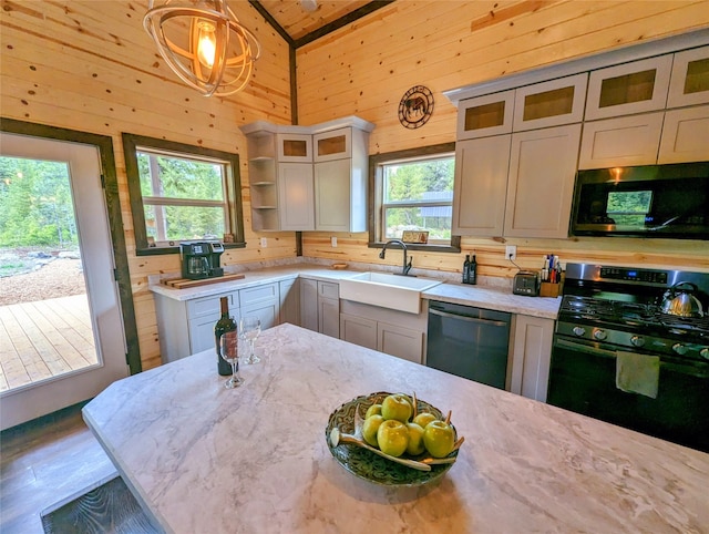
{"label": "upper pane of the left window, above the coffee maker", "polygon": [[[173,156],[138,153],[141,193],[144,196],[222,201],[223,166]],[[156,166],[151,165],[151,158]],[[153,175],[151,170],[156,170]]]}

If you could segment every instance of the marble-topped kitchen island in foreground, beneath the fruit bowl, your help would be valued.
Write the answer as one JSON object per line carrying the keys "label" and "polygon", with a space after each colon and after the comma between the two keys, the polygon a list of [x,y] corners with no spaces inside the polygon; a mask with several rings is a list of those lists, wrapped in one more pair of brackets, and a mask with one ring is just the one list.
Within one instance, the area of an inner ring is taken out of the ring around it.
{"label": "marble-topped kitchen island in foreground, beneath the fruit bowl", "polygon": [[[709,454],[291,325],[257,347],[239,389],[204,351],[83,409],[165,532],[707,532]],[[441,480],[380,486],[331,455],[330,413],[378,391],[452,410],[465,442]]]}

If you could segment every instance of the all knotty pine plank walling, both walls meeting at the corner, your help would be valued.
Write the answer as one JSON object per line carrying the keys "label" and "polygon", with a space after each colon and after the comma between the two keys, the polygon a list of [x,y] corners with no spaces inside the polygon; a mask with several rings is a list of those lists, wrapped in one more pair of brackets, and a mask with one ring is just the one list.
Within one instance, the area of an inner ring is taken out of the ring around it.
{"label": "all knotty pine plank walling, both walls meeting at the corner", "polygon": [[[158,366],[160,346],[147,276],[174,273],[175,256],[135,256],[121,132],[236,152],[242,156],[245,250],[225,265],[296,255],[292,233],[250,227],[246,143],[238,126],[290,120],[288,47],[246,1],[232,9],[264,45],[253,81],[230,97],[204,99],[164,64],[142,27],[146,0],[2,0],[0,115],[113,138],[143,368]],[[413,1],[399,0],[297,52],[301,124],[357,114],[377,124],[372,153],[454,141],[455,109],[442,91],[613,47],[709,24],[707,1]],[[424,84],[435,112],[420,130],[397,120],[401,95]],[[304,255],[381,263],[366,234],[304,233]],[[578,239],[510,240],[518,264],[536,267],[542,254],[566,260],[646,263],[709,269],[706,242]],[[504,248],[463,238],[480,274],[511,276]],[[397,255],[384,263],[398,261]],[[414,265],[455,271],[462,257],[414,254]]]}

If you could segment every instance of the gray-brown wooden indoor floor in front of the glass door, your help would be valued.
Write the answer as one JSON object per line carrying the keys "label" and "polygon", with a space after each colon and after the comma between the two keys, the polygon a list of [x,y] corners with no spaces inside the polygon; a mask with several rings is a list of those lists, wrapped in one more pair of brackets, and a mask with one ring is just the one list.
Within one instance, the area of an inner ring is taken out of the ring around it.
{"label": "gray-brown wooden indoor floor in front of the glass door", "polygon": [[0,432],[2,534],[42,534],[43,510],[115,476],[80,409],[70,407]]}

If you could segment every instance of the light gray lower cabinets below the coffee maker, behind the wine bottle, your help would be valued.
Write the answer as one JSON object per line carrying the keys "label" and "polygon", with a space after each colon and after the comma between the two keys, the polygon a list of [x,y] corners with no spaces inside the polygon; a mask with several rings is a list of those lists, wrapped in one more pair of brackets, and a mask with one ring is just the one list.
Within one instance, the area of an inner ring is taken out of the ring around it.
{"label": "light gray lower cabinets below the coffee maker, behind the wine bottle", "polygon": [[214,325],[220,316],[222,297],[228,298],[229,315],[236,321],[246,314],[257,315],[261,320],[263,329],[276,326],[279,321],[278,283],[192,300],[175,300],[155,294],[155,314],[163,363],[214,348]]}

